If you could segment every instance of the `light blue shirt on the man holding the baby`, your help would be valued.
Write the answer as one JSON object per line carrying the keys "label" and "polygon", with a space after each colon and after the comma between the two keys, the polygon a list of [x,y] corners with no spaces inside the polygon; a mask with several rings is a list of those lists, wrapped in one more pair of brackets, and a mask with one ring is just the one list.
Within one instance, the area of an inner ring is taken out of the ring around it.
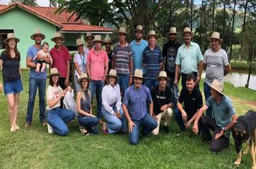
{"label": "light blue shirt on the man holding the baby", "polygon": [[[37,49],[34,45],[29,47],[27,50],[27,57],[31,57],[32,59],[37,55],[37,52],[39,52],[40,49]],[[37,64],[37,59],[32,60],[35,64]],[[29,77],[35,78],[35,79],[46,79],[47,78],[47,68],[45,68],[45,72],[35,72],[35,69],[30,68]]]}

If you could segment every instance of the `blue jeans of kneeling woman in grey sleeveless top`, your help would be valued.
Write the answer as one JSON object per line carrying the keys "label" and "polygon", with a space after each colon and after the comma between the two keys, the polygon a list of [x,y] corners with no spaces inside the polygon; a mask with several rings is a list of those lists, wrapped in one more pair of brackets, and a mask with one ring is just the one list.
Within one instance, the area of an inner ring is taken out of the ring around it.
{"label": "blue jeans of kneeling woman in grey sleeveless top", "polygon": [[97,117],[78,115],[78,123],[79,125],[85,128],[90,128],[91,131],[95,134],[99,133],[99,129],[98,129],[99,119]]}

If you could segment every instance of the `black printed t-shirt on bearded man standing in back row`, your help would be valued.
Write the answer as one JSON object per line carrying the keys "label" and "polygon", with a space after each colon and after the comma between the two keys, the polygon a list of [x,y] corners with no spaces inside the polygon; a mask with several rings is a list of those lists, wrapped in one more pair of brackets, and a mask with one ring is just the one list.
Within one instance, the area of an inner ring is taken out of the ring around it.
{"label": "black printed t-shirt on bearded man standing in back row", "polygon": [[[178,48],[180,43],[177,41],[168,41],[163,45],[163,58],[165,59],[165,72],[167,76],[173,79],[175,77],[175,59],[177,56]],[[166,57],[166,58],[165,58]]]}

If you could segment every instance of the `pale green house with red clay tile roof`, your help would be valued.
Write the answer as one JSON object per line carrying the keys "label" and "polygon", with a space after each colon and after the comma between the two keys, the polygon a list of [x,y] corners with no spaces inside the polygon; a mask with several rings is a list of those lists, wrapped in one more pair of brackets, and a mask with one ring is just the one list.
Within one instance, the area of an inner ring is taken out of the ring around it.
{"label": "pale green house with red clay tile roof", "polygon": [[[0,52],[4,49],[4,39],[7,34],[13,32],[20,39],[18,44],[22,56],[21,67],[26,67],[27,49],[35,42],[30,36],[35,29],[40,29],[45,34],[43,42],[48,42],[50,48],[54,42],[50,39],[58,31],[65,37],[64,45],[74,50],[76,39],[85,37],[85,34],[111,34],[112,29],[104,26],[83,24],[81,19],[75,21],[76,16],[68,12],[55,14],[58,8],[43,6],[26,6],[19,3],[0,5]],[[69,19],[70,18],[70,19]],[[69,19],[69,20],[68,20]]]}

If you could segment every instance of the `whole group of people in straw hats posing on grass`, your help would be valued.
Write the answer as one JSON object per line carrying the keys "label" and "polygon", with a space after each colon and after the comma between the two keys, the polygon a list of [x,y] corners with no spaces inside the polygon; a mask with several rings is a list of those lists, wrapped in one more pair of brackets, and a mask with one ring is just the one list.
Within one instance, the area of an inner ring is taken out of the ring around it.
{"label": "whole group of people in straw hats posing on grass", "polygon": [[[55,46],[49,49],[42,44],[45,35],[36,30],[31,39],[35,44],[27,52],[29,72],[29,102],[24,127],[32,125],[32,113],[35,95],[39,93],[40,121],[42,125],[52,127],[58,135],[67,135],[67,122],[78,119],[83,135],[98,133],[98,124],[103,132],[129,132],[129,143],[139,143],[142,136],[158,135],[163,121],[163,130],[169,133],[170,119],[174,115],[183,135],[191,126],[196,135],[210,143],[210,148],[218,152],[229,146],[229,130],[237,115],[232,102],[223,93],[223,77],[231,70],[227,52],[221,49],[219,32],[213,32],[209,38],[211,48],[204,57],[201,49],[192,42],[193,32],[186,27],[183,30],[184,43],[177,42],[176,28],[168,32],[168,42],[163,50],[157,46],[157,34],[149,32],[147,41],[142,38],[141,25],[136,26],[134,40],[127,42],[127,30],[120,27],[119,42],[113,42],[109,36],[103,40],[100,35],[86,34],[86,46],[83,39],[77,39],[78,52],[74,55],[76,109],[65,109],[63,97],[70,92],[70,54],[63,45],[63,36],[56,32],[52,37]],[[8,34],[4,40],[6,49],[1,53],[0,67],[3,67],[4,93],[9,103],[11,131],[19,130],[17,110],[19,92],[22,92],[22,79],[19,67],[20,54],[17,50],[19,39]],[[106,49],[102,48],[105,45]],[[46,92],[47,71],[50,64],[50,85]],[[201,73],[206,70],[204,95],[199,90]],[[181,77],[182,90],[178,82]],[[0,90],[2,84],[0,82]],[[92,100],[96,94],[96,115],[92,113]],[[206,111],[206,115],[204,112]],[[214,131],[211,135],[210,130]]]}

